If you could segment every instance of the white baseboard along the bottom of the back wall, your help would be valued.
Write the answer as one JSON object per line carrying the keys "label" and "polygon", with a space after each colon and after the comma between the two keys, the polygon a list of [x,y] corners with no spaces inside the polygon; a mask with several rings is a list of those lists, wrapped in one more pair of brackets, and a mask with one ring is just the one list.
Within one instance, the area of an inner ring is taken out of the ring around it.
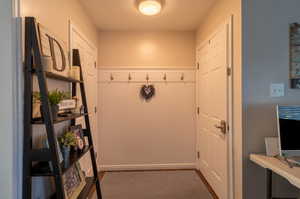
{"label": "white baseboard along the bottom of the back wall", "polygon": [[100,165],[99,171],[196,169],[195,163]]}

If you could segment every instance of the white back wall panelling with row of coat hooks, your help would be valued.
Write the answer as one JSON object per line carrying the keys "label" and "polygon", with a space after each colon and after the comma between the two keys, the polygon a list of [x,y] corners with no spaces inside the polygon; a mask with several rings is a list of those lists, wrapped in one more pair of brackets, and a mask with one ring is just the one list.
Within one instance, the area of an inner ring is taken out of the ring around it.
{"label": "white back wall panelling with row of coat hooks", "polygon": [[[98,75],[102,170],[195,168],[194,70],[105,69]],[[150,101],[140,97],[147,76],[156,89]]]}

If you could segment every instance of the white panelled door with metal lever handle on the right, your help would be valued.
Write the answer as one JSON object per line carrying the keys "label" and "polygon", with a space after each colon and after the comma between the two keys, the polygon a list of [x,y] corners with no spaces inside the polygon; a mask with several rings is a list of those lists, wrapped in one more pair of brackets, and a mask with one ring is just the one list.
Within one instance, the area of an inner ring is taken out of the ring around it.
{"label": "white panelled door with metal lever handle on the right", "polygon": [[220,199],[229,198],[231,45],[226,23],[197,49],[198,167]]}

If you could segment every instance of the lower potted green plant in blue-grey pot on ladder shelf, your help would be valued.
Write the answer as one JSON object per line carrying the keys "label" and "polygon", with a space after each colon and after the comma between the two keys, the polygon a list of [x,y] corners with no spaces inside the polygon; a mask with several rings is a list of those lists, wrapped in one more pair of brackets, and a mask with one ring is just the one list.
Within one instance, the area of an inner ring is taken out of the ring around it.
{"label": "lower potted green plant in blue-grey pot on ladder shelf", "polygon": [[59,138],[59,143],[62,148],[65,165],[68,165],[71,147],[75,147],[77,145],[76,136],[72,131],[67,131]]}

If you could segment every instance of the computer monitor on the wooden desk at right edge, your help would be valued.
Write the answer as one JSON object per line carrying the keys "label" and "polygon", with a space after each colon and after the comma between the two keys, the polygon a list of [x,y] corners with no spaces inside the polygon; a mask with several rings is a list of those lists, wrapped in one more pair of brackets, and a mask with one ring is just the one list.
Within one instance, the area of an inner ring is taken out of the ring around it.
{"label": "computer monitor on the wooden desk at right edge", "polygon": [[300,156],[300,106],[277,106],[280,155]]}

